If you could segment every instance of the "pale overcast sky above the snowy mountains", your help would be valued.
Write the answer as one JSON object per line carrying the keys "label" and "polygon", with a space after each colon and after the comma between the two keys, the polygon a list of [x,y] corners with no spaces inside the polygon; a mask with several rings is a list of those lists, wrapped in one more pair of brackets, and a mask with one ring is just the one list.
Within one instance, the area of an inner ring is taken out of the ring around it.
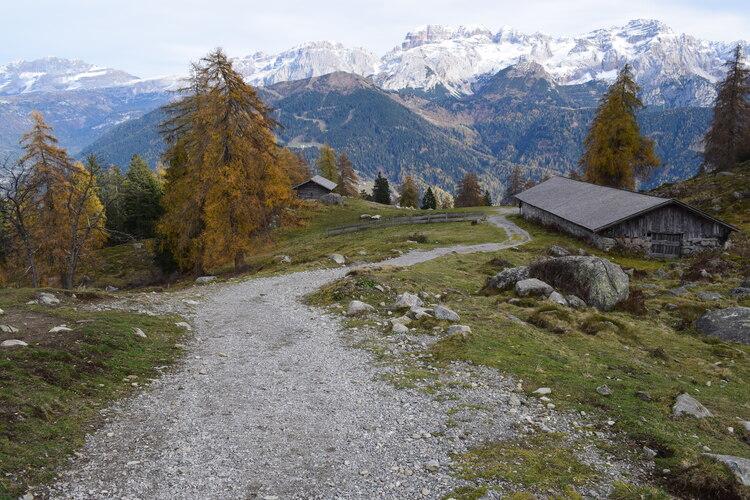
{"label": "pale overcast sky above the snowy mountains", "polygon": [[214,47],[230,56],[336,40],[382,55],[424,24],[577,35],[659,19],[708,40],[750,39],[750,0],[34,0],[4,2],[0,65],[58,56],[141,77],[185,73]]}

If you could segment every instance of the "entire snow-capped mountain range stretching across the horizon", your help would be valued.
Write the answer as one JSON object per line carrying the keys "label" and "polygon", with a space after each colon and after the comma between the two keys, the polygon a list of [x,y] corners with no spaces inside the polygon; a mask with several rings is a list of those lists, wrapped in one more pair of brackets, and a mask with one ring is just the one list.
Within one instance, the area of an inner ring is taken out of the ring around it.
{"label": "entire snow-capped mountain range stretching across the horizon", "polygon": [[[611,81],[625,63],[633,66],[647,104],[710,106],[714,83],[737,42],[712,42],[677,34],[655,20],[598,29],[576,37],[525,34],[480,25],[420,27],[383,57],[340,43],[307,42],[285,52],[235,59],[256,86],[321,76],[337,71],[371,77],[388,90],[442,87],[460,96],[519,62],[539,64],[559,85]],[[745,49],[748,43],[742,42]],[[0,67],[0,95],[40,91],[133,86],[136,92],[175,88],[178,77],[141,80],[123,71],[82,61],[45,58]]]}

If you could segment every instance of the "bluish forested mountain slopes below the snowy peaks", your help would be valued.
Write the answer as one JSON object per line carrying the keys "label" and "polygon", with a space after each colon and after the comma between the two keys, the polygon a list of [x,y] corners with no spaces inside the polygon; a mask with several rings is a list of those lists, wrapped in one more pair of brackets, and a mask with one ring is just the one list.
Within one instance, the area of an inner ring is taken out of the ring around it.
{"label": "bluish forested mountain slopes below the snowy peaks", "polygon": [[[445,93],[386,92],[370,80],[333,73],[261,89],[283,125],[285,145],[309,159],[329,143],[346,153],[364,179],[379,170],[393,183],[407,174],[453,191],[476,173],[498,199],[513,164],[527,175],[568,173],[577,167],[599,83],[560,86],[539,66],[521,64],[485,79],[469,97]],[[80,153],[125,165],[133,153],[155,161],[162,115],[125,122]],[[710,119],[705,108],[649,109],[639,120],[656,142],[663,166],[644,187],[690,177]]]}

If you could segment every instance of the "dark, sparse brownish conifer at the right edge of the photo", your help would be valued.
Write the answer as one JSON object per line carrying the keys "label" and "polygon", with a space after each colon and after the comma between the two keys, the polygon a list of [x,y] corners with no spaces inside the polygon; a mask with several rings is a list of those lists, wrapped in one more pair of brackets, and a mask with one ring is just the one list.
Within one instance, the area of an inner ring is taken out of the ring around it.
{"label": "dark, sparse brownish conifer at the right edge of the photo", "polygon": [[727,74],[716,84],[711,126],[703,139],[703,170],[726,170],[750,159],[750,69],[742,47],[724,63]]}

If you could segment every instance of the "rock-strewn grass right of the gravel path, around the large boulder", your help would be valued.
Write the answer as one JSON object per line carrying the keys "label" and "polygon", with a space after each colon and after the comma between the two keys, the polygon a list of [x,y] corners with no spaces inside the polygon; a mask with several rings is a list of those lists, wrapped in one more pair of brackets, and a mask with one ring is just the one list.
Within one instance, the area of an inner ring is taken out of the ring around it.
{"label": "rock-strewn grass right of the gravel path, around the large boulder", "polygon": [[[357,273],[322,289],[311,301],[345,305],[353,296],[361,296],[376,305],[405,291],[434,294],[455,289],[460,293],[444,295],[441,302],[458,312],[461,323],[471,326],[473,334],[465,340],[447,337],[426,351],[435,364],[462,360],[494,367],[523,379],[527,391],[551,387],[558,408],[585,411],[599,422],[614,420],[614,429],[622,433],[627,444],[613,445],[607,451],[642,460],[642,446],[657,450],[657,470],[672,471],[668,480],[673,491],[681,488],[680,471],[688,467],[698,467],[709,478],[704,483],[712,484],[715,470],[721,467],[709,467],[699,459],[704,447],[713,453],[750,455],[745,442],[750,435],[737,422],[750,420],[750,347],[701,336],[692,326],[692,321],[708,308],[750,305],[748,299],[738,302],[730,298],[708,304],[694,295],[698,290],[717,290],[726,296],[727,288],[736,286],[736,281],[728,275],[700,283],[684,297],[646,290],[649,293],[638,299],[645,307],[642,315],[626,310],[573,310],[535,299],[513,305],[508,302],[515,296],[513,292],[479,293],[486,278],[499,270],[491,259],[511,265],[529,264],[542,258],[550,244],[583,248],[634,268],[640,276],[634,280],[636,283],[656,284],[660,290],[679,283],[676,278],[663,280],[655,276],[657,269],[669,269],[666,261],[645,260],[627,253],[604,254],[574,238],[525,221],[518,223],[533,236],[531,243],[518,249],[447,255],[409,268]],[[358,286],[355,279],[379,283],[388,287],[387,293]],[[669,303],[676,309],[667,309]],[[511,321],[508,315],[525,323]],[[429,322],[409,326],[417,326],[418,333],[432,334],[433,325]],[[596,388],[604,384],[612,389],[611,396],[596,393]],[[716,417],[673,419],[671,406],[683,391],[696,397]],[[636,397],[637,392],[648,392],[652,401]],[[733,433],[729,427],[734,428]],[[700,475],[691,470],[693,476]],[[732,491],[740,492],[734,498],[750,498],[747,488],[736,487]]]}

